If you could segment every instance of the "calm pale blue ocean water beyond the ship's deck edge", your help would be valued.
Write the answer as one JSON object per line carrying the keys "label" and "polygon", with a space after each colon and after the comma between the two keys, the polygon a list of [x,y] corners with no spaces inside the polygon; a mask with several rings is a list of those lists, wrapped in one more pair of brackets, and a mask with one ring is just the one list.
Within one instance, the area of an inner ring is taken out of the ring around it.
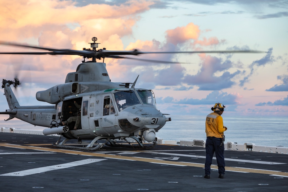
{"label": "calm pale blue ocean water beyond the ship's deck edge", "polygon": [[[165,140],[206,140],[206,116],[167,115],[167,117],[171,117],[172,121],[166,122],[166,125],[156,133],[156,137],[163,139],[164,142]],[[228,128],[224,132],[225,143],[255,143],[256,145],[288,147],[288,117],[225,117],[225,115],[222,117],[224,126]],[[0,127],[44,129],[16,118],[9,121],[1,120]]]}

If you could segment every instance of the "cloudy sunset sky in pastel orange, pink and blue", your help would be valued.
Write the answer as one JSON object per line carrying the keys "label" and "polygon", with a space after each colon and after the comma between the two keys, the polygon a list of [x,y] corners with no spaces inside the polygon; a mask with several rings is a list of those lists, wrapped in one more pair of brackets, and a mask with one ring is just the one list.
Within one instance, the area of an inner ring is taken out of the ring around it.
{"label": "cloudy sunset sky in pastel orange, pink and blue", "polygon": [[[285,0],[0,0],[0,41],[82,50],[149,52],[259,50],[241,54],[146,54],[159,64],[105,58],[111,81],[152,89],[157,108],[207,115],[220,102],[230,117],[288,116],[288,1]],[[0,52],[39,51],[0,45]],[[35,94],[65,82],[80,56],[1,55],[20,105],[47,105]],[[103,62],[99,60],[98,62]],[[2,90],[4,93],[4,91]],[[8,109],[5,96],[0,111]],[[8,115],[0,115],[1,124]],[[9,123],[13,123],[11,120]]]}

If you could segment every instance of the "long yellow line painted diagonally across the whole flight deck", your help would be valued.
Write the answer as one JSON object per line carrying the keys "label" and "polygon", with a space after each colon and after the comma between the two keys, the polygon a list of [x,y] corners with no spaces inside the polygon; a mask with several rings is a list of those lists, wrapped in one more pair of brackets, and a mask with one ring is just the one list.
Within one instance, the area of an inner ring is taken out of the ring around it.
{"label": "long yellow line painted diagonally across the whole flight deck", "polygon": [[[170,165],[182,165],[182,166],[191,166],[191,167],[200,167],[204,168],[203,164],[196,164],[196,163],[187,163],[187,162],[175,162],[175,161],[163,161],[158,159],[148,159],[148,158],[139,158],[139,157],[126,157],[120,155],[109,155],[109,154],[102,154],[102,153],[88,153],[85,151],[70,151],[69,149],[56,149],[56,148],[44,148],[44,147],[34,147],[34,146],[25,146],[25,145],[15,145],[15,144],[8,144],[8,143],[0,143],[2,147],[13,147],[19,149],[32,149],[32,150],[41,150],[41,151],[50,151],[50,152],[58,152],[58,153],[69,153],[75,155],[89,155],[94,157],[104,157],[104,158],[113,158],[113,159],[124,159],[124,160],[134,160],[134,161],[144,161],[149,163],[159,163],[159,164],[170,164]],[[39,146],[43,146],[42,144]],[[212,169],[218,169],[217,166],[211,166]],[[257,170],[257,169],[250,169],[250,168],[239,168],[239,167],[225,167],[227,171],[237,171],[237,172],[249,172],[249,173],[261,173],[261,174],[269,174],[269,175],[281,175],[281,176],[288,176],[288,172],[279,172],[279,171],[272,171],[272,170]]]}

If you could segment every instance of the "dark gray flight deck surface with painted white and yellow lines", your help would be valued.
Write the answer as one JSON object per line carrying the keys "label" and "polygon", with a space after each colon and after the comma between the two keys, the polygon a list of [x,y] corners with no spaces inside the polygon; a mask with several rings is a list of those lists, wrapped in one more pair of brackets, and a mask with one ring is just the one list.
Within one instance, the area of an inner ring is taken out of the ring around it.
{"label": "dark gray flight deck surface with painted white and yellow lines", "polygon": [[[59,137],[0,133],[1,191],[287,191],[288,155],[226,150],[226,174],[205,148],[157,145],[150,150],[52,147]],[[77,145],[77,140],[71,140]],[[82,145],[89,144],[82,143]]]}

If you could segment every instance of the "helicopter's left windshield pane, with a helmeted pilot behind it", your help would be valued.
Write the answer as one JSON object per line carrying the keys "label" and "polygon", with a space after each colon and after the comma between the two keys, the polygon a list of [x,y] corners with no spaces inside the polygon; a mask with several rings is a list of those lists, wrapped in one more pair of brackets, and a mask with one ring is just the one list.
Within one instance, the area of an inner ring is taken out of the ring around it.
{"label": "helicopter's left windshield pane, with a helmeted pilot behind it", "polygon": [[132,105],[141,104],[136,93],[132,90],[115,92],[115,100],[118,111],[122,111]]}

